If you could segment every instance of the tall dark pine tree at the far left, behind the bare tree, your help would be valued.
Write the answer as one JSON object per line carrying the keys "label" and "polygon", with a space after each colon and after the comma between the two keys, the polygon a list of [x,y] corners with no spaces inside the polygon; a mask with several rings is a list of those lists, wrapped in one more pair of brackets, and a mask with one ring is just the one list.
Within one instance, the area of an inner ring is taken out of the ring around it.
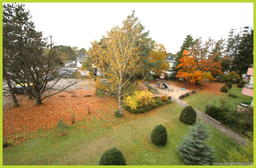
{"label": "tall dark pine tree at the far left, behind the bare tree", "polygon": [[[35,31],[35,25],[31,19],[32,16],[29,10],[25,9],[24,4],[3,4],[3,65],[8,72],[17,71],[17,69],[24,72],[23,86],[24,83],[31,82],[29,81],[28,67],[33,64],[33,62],[26,62],[24,59],[37,52],[42,54],[45,46],[42,41],[42,32]],[[33,60],[35,62],[35,59]],[[15,72],[11,73],[14,74]],[[5,74],[5,76],[8,75]],[[31,89],[30,85],[27,85],[27,88],[24,87],[29,99],[32,98],[33,94],[30,92]]]}

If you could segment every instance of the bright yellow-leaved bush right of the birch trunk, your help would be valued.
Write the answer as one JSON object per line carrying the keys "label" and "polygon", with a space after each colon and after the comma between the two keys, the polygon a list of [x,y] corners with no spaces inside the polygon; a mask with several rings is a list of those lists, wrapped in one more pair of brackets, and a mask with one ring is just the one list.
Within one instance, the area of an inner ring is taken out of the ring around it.
{"label": "bright yellow-leaved bush right of the birch trunk", "polygon": [[127,98],[124,100],[124,103],[132,110],[136,110],[138,107],[143,107],[149,103],[155,103],[153,98],[154,95],[148,90],[135,91],[133,96],[127,96]]}

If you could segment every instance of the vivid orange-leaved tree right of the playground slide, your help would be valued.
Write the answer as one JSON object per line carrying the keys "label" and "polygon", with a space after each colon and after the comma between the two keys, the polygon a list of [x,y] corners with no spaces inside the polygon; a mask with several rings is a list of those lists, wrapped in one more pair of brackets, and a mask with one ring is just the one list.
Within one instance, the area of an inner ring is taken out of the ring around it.
{"label": "vivid orange-leaved tree right of the playground slide", "polygon": [[[215,80],[212,74],[222,74],[221,61],[215,60],[214,55],[207,57],[196,55],[191,50],[184,50],[183,57],[176,68],[181,68],[176,77],[182,77],[201,85],[204,79]],[[189,56],[191,55],[191,56]]]}

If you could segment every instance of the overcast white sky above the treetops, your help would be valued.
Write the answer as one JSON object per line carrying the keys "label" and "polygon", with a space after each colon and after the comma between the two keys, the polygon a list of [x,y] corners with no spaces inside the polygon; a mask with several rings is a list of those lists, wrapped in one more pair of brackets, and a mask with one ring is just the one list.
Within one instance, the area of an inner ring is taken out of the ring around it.
{"label": "overcast white sky above the treetops", "polygon": [[253,3],[24,3],[37,31],[53,35],[56,45],[89,48],[113,25],[135,10],[153,40],[167,52],[180,50],[189,34],[195,39],[227,39],[230,29],[253,26]]}

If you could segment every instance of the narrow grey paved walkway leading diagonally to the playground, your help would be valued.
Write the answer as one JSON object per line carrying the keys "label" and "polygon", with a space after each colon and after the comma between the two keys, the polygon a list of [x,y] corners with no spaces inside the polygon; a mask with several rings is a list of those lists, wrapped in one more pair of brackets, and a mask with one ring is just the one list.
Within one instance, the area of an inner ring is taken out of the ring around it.
{"label": "narrow grey paved walkway leading diagonally to the playground", "polygon": [[[176,102],[177,104],[179,104],[181,107],[186,107],[189,106],[189,104],[185,103],[184,101],[182,101],[181,99],[179,99],[179,97],[171,97],[171,100],[173,102]],[[216,129],[218,129],[219,131],[223,132],[225,135],[231,137],[232,139],[234,139],[235,141],[237,141],[240,144],[243,145],[247,145],[247,141],[245,140],[244,137],[242,137],[241,135],[235,133],[234,131],[228,129],[227,127],[224,127],[223,125],[221,125],[219,122],[216,122],[216,120],[207,117],[204,113],[195,110],[197,112],[197,117],[200,119],[203,119],[203,121],[209,123],[211,126],[215,127]]]}

